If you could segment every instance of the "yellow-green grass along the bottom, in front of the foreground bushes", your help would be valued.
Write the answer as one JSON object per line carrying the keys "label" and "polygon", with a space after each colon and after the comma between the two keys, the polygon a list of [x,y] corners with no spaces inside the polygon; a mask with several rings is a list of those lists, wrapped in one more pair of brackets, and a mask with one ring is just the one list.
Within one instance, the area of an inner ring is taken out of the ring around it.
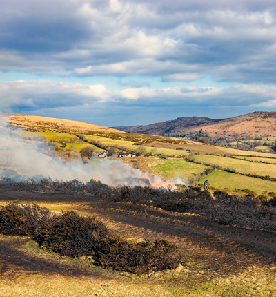
{"label": "yellow-green grass along the bottom, in front of the foreground bushes", "polygon": [[[32,242],[19,236],[0,236],[0,242],[17,247],[19,254],[27,253],[38,262],[48,261],[65,271],[25,272],[16,278],[0,278],[0,296],[70,296],[70,297],[132,297],[132,296],[275,296],[276,269],[268,267],[247,267],[231,276],[208,278],[194,271],[181,268],[152,277],[120,274],[91,265],[86,258],[72,259],[43,251]],[[22,267],[23,268],[23,267]],[[22,269],[21,268],[21,269]],[[73,276],[70,269],[82,271],[82,276]]]}

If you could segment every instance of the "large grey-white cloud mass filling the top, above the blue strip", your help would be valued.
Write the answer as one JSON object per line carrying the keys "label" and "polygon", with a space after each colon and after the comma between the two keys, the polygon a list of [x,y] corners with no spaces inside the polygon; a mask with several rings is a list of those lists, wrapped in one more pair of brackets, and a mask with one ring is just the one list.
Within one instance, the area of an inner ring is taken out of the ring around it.
{"label": "large grey-white cloud mass filling the top, above the blue strip", "polygon": [[275,83],[275,1],[3,0],[0,6],[1,70]]}

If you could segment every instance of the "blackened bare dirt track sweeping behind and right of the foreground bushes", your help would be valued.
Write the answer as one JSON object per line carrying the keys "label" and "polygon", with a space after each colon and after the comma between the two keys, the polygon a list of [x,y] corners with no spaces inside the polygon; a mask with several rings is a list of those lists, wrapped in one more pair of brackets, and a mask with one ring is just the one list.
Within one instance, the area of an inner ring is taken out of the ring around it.
{"label": "blackened bare dirt track sweeping behind and right of the foreground bushes", "polygon": [[[248,266],[276,265],[276,236],[273,232],[229,227],[199,215],[170,213],[142,204],[110,202],[92,195],[31,193],[20,191],[16,186],[0,186],[0,203],[11,200],[62,204],[64,210],[97,215],[112,231],[124,233],[128,238],[164,238],[175,242],[183,251],[184,266],[193,273],[197,271],[198,275],[235,274]],[[59,268],[62,274],[81,275],[78,269]],[[19,256],[16,247],[0,241],[0,277],[13,276],[16,269],[57,272],[57,263],[46,263],[30,255]]]}

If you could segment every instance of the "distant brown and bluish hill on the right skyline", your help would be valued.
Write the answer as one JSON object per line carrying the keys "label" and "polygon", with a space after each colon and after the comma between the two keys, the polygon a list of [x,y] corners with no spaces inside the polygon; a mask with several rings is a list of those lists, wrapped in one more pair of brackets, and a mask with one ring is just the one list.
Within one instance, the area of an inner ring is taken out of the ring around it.
{"label": "distant brown and bluish hill on the right skyline", "polygon": [[256,111],[229,119],[209,119],[208,117],[178,117],[172,121],[146,126],[114,127],[128,133],[165,135],[188,131],[205,131],[210,135],[246,134],[252,137],[260,135],[276,136],[276,111]]}

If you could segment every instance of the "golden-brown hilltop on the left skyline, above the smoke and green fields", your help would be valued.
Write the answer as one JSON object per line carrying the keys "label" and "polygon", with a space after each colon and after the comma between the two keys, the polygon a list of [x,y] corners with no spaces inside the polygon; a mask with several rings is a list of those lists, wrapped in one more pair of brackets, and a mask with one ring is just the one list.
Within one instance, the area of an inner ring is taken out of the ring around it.
{"label": "golden-brown hilltop on the left skyline, above the smoke and green fields", "polygon": [[24,128],[26,131],[48,131],[80,133],[81,131],[97,131],[106,133],[121,133],[121,131],[97,126],[89,123],[70,121],[69,119],[55,119],[52,117],[39,117],[35,115],[18,115],[5,113],[2,124],[8,124],[10,128]]}

